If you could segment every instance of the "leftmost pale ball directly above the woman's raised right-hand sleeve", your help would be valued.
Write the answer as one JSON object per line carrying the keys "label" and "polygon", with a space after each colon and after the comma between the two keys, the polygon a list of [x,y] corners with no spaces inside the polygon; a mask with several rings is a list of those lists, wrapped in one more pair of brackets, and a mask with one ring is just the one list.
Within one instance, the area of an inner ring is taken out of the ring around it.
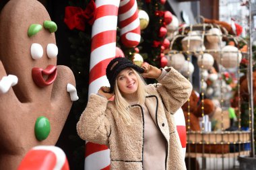
{"label": "leftmost pale ball directly above the woman's raised right-hand sleeve", "polygon": [[171,56],[168,56],[168,67],[173,67],[176,70],[180,70],[185,62],[185,56],[181,53],[178,54],[172,54]]}

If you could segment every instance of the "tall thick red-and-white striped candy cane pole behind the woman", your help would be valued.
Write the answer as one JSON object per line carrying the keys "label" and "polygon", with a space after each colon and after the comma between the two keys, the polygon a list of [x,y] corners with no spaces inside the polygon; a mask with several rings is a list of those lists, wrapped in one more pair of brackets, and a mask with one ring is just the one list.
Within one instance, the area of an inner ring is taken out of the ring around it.
{"label": "tall thick red-and-white striped candy cane pole behind the woman", "polygon": [[[106,67],[115,57],[117,15],[120,0],[96,0],[96,19],[92,25],[89,95],[101,86],[109,86]],[[110,169],[109,149],[100,144],[86,142],[86,170]]]}

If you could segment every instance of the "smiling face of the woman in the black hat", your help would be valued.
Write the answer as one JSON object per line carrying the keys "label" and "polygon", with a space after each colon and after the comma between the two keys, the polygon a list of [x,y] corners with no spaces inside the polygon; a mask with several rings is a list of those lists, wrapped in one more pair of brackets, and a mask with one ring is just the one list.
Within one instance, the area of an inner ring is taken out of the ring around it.
{"label": "smiling face of the woman in the black hat", "polygon": [[137,91],[138,81],[135,73],[130,68],[124,69],[117,75],[117,85],[119,90],[125,94]]}

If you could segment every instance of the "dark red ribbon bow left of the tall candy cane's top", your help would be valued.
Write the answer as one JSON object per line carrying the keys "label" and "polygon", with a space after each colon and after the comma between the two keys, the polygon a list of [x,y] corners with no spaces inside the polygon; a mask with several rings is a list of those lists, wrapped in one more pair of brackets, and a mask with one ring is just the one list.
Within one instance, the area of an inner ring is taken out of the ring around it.
{"label": "dark red ribbon bow left of the tall candy cane's top", "polygon": [[90,25],[94,23],[96,16],[96,5],[94,1],[88,3],[86,9],[80,7],[65,7],[65,19],[70,30],[76,28],[77,30],[84,31],[86,29],[86,22]]}

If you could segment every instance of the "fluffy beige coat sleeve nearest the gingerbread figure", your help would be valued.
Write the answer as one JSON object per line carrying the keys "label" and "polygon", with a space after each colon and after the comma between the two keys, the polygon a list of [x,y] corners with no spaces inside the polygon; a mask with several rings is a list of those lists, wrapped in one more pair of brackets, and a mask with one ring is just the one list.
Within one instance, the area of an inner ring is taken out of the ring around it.
{"label": "fluffy beige coat sleeve nearest the gingerbread figure", "polygon": [[106,117],[106,98],[92,94],[88,99],[86,110],[77,122],[77,134],[83,140],[108,145],[110,122]]}

